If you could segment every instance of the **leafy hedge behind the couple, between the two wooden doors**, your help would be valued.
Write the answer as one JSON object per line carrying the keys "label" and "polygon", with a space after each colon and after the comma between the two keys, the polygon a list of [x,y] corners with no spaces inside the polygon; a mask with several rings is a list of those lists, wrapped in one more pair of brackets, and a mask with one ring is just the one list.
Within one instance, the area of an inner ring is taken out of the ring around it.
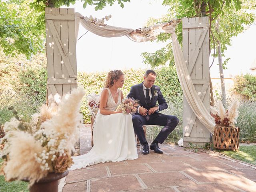
{"label": "leafy hedge behind the couple, between the two wooden doors", "polygon": [[[132,85],[141,83],[143,81],[143,75],[146,70],[124,70],[125,82],[122,88],[124,96],[126,96]],[[170,101],[182,101],[182,88],[180,86],[176,69],[174,67],[163,67],[155,70],[157,73],[157,78],[155,84],[160,86],[162,94],[165,98]],[[94,72],[78,73],[78,84],[82,85],[86,91],[86,95],[95,92],[100,94],[102,88],[104,87],[104,82],[107,72]],[[84,115],[85,123],[90,123],[90,117],[88,116],[88,108],[86,98],[82,102],[81,112]]]}

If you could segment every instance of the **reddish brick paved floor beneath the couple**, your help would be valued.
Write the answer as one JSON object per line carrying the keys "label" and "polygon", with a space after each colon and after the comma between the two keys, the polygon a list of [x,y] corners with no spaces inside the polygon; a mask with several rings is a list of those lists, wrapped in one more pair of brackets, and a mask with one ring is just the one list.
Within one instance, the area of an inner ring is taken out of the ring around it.
{"label": "reddish brick paved floor beneath the couple", "polygon": [[[90,146],[90,127],[81,130],[81,154]],[[172,145],[164,154],[96,164],[70,171],[59,192],[256,192],[256,167]]]}

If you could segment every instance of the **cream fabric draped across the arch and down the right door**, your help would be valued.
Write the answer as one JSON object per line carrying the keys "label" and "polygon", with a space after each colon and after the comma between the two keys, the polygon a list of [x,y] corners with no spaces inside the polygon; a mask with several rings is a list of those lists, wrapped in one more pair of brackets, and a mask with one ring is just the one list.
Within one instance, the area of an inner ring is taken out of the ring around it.
{"label": "cream fabric draped across the arch and down the right door", "polygon": [[[78,34],[79,22],[82,26],[102,37],[120,37],[120,36],[127,36],[131,40],[135,42],[146,42],[152,40],[152,38],[144,36],[140,33],[134,33],[134,29],[128,28],[121,28],[121,27],[114,27],[114,26],[96,26],[95,24],[91,24],[90,22],[81,19],[83,17],[80,13],[75,13],[76,17],[76,39]],[[188,101],[188,104],[192,108],[196,117],[200,120],[204,126],[213,134],[214,133],[214,126],[215,122],[210,116],[208,110],[204,106],[202,100],[199,98],[196,89],[194,88],[192,79],[188,73],[188,68],[186,66],[182,50],[180,48],[180,44],[177,40],[177,36],[175,34],[175,23],[174,25],[165,26],[166,23],[162,23],[159,25],[152,26],[154,32],[151,32],[150,35],[155,36],[160,32],[171,33],[172,34],[172,49],[174,54],[174,61],[177,70],[177,74],[180,80],[180,85],[182,87],[183,93]]]}

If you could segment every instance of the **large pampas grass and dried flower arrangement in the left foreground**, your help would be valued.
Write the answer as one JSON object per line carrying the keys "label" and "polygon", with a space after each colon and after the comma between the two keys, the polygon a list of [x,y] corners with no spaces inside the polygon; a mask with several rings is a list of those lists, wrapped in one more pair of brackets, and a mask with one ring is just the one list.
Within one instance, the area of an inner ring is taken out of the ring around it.
{"label": "large pampas grass and dried flower arrangement in the left foreground", "polygon": [[81,88],[73,89],[58,106],[54,102],[48,107],[42,105],[30,121],[10,107],[15,118],[4,124],[6,135],[1,139],[4,162],[0,173],[7,181],[28,178],[32,185],[49,172],[61,173],[70,168],[70,154],[83,122],[80,100],[84,94]]}

